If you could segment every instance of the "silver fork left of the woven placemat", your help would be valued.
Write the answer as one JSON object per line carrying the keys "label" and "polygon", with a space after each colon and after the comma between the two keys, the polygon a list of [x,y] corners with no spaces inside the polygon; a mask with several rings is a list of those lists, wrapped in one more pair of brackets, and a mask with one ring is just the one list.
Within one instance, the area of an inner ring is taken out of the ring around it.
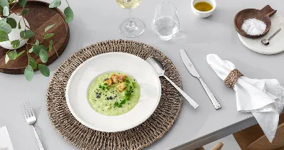
{"label": "silver fork left of the woven placemat", "polygon": [[40,150],[44,150],[43,144],[41,144],[41,141],[40,141],[40,136],[38,136],[38,132],[36,132],[35,127],[34,127],[34,124],[36,122],[36,117],[35,117],[35,113],[33,113],[33,109],[31,108],[30,102],[23,103],[21,107],[23,111],[23,116],[25,117],[27,124],[33,127],[33,132],[35,134],[36,141],[38,142],[38,147],[40,148]]}

